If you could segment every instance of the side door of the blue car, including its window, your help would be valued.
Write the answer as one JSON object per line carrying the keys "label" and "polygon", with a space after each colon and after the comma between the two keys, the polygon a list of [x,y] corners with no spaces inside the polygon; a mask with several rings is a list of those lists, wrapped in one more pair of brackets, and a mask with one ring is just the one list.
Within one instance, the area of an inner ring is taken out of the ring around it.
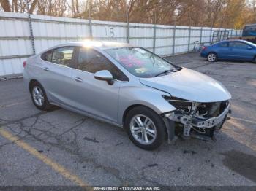
{"label": "side door of the blue car, including its window", "polygon": [[233,60],[252,61],[255,56],[252,47],[244,42],[230,42],[229,47]]}

